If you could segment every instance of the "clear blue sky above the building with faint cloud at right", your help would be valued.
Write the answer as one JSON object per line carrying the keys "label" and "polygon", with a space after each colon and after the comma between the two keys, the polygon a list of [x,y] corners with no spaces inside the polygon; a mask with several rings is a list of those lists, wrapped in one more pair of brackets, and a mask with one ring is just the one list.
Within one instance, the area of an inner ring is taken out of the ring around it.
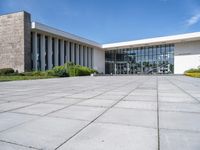
{"label": "clear blue sky above the building with faint cloud at right", "polygon": [[200,0],[0,0],[0,14],[110,43],[200,31]]}

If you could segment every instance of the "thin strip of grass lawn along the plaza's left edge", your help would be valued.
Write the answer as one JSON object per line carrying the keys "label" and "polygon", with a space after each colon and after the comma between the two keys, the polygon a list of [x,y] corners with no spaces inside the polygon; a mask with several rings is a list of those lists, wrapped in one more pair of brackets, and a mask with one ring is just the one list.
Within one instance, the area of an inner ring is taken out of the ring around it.
{"label": "thin strip of grass lawn along the plaza's left edge", "polygon": [[48,79],[48,78],[56,78],[53,76],[0,76],[0,82],[3,81],[16,81],[16,80],[35,80],[35,79]]}

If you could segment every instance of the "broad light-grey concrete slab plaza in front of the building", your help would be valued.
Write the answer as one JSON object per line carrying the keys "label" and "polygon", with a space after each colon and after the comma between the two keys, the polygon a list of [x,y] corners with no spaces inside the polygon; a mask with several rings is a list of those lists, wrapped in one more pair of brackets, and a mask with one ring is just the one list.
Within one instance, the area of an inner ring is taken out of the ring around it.
{"label": "broad light-grey concrete slab plaza in front of the building", "polygon": [[199,150],[200,79],[0,82],[0,150]]}

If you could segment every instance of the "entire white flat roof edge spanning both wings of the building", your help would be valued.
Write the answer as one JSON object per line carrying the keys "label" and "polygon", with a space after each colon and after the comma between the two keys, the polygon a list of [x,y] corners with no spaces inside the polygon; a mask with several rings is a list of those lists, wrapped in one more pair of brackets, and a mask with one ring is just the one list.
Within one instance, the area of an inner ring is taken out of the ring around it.
{"label": "entire white flat roof edge spanning both wings of the building", "polygon": [[150,46],[150,45],[160,45],[160,44],[172,44],[172,43],[175,44],[175,43],[180,43],[180,42],[200,40],[200,32],[194,32],[194,33],[163,36],[163,37],[148,38],[148,39],[141,39],[141,40],[134,40],[134,41],[100,44],[95,41],[88,40],[86,38],[83,38],[83,37],[80,37],[80,36],[65,32],[65,31],[61,31],[59,29],[55,29],[55,28],[49,27],[47,25],[44,25],[44,24],[41,24],[38,22],[32,22],[32,29],[40,30],[43,32],[54,34],[56,36],[61,36],[61,37],[67,38],[67,39],[85,43],[85,44],[95,46],[98,48],[103,48],[106,50],[140,47],[140,46]]}

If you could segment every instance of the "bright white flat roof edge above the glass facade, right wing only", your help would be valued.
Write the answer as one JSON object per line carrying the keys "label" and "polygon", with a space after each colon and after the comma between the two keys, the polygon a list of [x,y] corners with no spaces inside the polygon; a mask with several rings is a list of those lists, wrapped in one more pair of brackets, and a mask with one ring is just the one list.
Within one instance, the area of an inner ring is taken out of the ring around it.
{"label": "bright white flat roof edge above the glass facade, right wing only", "polygon": [[172,43],[180,43],[187,41],[196,41],[200,40],[200,32],[187,33],[187,34],[179,34],[172,36],[163,36],[149,39],[141,39],[127,42],[119,42],[119,43],[110,43],[103,44],[102,48],[104,49],[117,49],[123,47],[137,47],[137,46],[148,46],[148,45],[157,45],[157,44],[172,44]]}

